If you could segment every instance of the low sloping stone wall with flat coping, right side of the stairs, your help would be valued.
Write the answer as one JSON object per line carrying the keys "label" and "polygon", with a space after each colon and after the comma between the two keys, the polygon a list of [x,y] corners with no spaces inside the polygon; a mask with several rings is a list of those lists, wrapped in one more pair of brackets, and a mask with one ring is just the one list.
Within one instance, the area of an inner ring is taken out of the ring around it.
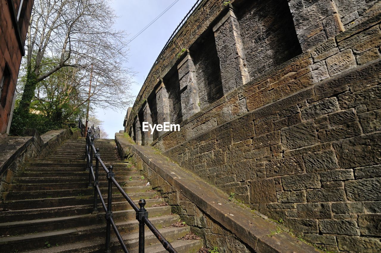
{"label": "low sloping stone wall with flat coping, right side of the stairs", "polygon": [[221,253],[318,253],[258,212],[229,200],[197,176],[180,168],[152,147],[132,143],[115,133],[120,157],[134,162],[153,189],[171,205],[172,213],[191,226],[191,231]]}

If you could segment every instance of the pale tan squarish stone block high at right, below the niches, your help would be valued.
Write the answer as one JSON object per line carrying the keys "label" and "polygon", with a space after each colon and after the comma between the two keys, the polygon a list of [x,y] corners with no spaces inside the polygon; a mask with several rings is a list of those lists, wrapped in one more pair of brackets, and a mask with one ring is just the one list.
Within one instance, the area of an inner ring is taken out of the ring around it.
{"label": "pale tan squarish stone block high at right, below the niches", "polygon": [[328,72],[331,77],[357,66],[355,56],[350,49],[341,51],[340,53],[327,58],[326,61]]}

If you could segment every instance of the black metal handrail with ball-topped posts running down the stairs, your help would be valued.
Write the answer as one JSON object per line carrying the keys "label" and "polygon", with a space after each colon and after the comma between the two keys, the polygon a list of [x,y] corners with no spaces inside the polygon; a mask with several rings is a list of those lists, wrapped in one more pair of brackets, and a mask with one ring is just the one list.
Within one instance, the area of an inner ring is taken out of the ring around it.
{"label": "black metal handrail with ball-topped posts running down the stairs", "polygon": [[[92,127],[94,129],[94,126]],[[86,136],[86,171],[89,171],[89,187],[94,187],[94,207],[93,212],[98,212],[98,196],[101,200],[102,207],[106,212],[106,253],[111,252],[110,249],[110,238],[111,238],[111,227],[113,228],[115,235],[118,238],[120,245],[125,253],[128,253],[126,244],[123,241],[122,236],[120,235],[117,226],[115,225],[113,215],[112,215],[112,184],[114,184],[118,191],[123,195],[123,197],[127,200],[127,202],[131,205],[131,207],[136,212],[136,219],[139,221],[139,253],[144,253],[144,225],[152,231],[152,233],[156,236],[156,238],[162,243],[163,247],[166,251],[170,253],[177,253],[177,251],[172,247],[171,243],[169,243],[162,234],[157,230],[157,228],[150,222],[148,219],[148,212],[144,208],[146,205],[146,200],[139,200],[139,207],[133,202],[133,200],[126,194],[126,192],[122,189],[120,184],[116,181],[114,172],[112,171],[112,166],[106,168],[106,165],[102,162],[101,154],[99,154],[99,149],[94,147],[94,133],[88,128],[87,136]],[[99,138],[99,137],[98,137]],[[95,157],[95,171],[93,168],[93,156]],[[107,206],[103,200],[101,190],[99,189],[99,164],[102,166],[104,171],[107,174],[108,181],[108,192],[107,192]],[[91,182],[93,181],[93,185]]]}

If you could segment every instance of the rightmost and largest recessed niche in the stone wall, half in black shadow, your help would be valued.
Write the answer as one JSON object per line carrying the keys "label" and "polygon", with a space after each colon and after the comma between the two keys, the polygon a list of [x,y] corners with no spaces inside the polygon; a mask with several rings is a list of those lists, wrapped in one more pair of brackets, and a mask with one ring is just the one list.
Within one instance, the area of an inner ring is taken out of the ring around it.
{"label": "rightmost and largest recessed niche in the stone wall, half in black shadow", "polygon": [[237,18],[250,77],[302,53],[287,1],[261,0],[239,8]]}

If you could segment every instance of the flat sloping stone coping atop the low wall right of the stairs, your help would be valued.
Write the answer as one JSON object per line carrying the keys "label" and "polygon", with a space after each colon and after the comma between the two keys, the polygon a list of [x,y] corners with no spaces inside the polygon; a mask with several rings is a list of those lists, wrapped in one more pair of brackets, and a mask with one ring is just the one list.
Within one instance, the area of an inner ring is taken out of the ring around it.
{"label": "flat sloping stone coping atop the low wall right of the stairs", "polygon": [[200,210],[237,235],[240,240],[256,252],[320,252],[287,232],[270,236],[277,231],[275,224],[251,212],[250,208],[239,207],[234,202],[229,201],[227,194],[185,171],[177,164],[168,162],[166,157],[157,154],[152,147],[132,144],[120,133],[115,133],[115,141],[121,157],[128,158],[134,153],[137,154],[149,167],[177,191],[190,199]]}

